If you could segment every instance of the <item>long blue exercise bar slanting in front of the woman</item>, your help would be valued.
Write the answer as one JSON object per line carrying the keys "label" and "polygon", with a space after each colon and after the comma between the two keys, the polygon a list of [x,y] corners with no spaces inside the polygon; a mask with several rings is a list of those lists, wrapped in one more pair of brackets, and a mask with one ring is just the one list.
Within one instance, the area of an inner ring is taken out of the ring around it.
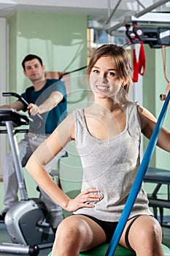
{"label": "long blue exercise bar slanting in front of the woman", "polygon": [[163,104],[163,108],[161,110],[161,113],[158,117],[158,121],[155,125],[155,129],[152,132],[152,136],[150,138],[150,141],[148,143],[147,149],[145,151],[144,157],[142,159],[142,163],[139,167],[138,173],[136,175],[136,178],[134,180],[134,184],[131,187],[131,192],[128,195],[128,199],[125,203],[125,206],[123,208],[123,212],[120,216],[120,220],[117,224],[117,227],[115,229],[115,233],[112,236],[112,241],[109,244],[109,248],[107,249],[106,256],[113,256],[117,247],[117,244],[120,240],[120,237],[123,233],[124,227],[126,222],[128,221],[128,217],[131,214],[131,210],[134,206],[136,197],[139,193],[139,189],[142,186],[142,181],[144,180],[145,173],[147,172],[147,167],[150,164],[150,159],[152,158],[153,151],[155,149],[156,143],[158,141],[159,134],[161,132],[161,128],[163,126],[163,121],[166,116],[166,111],[169,105],[169,99],[170,99],[170,91],[169,94],[166,97],[166,100]]}

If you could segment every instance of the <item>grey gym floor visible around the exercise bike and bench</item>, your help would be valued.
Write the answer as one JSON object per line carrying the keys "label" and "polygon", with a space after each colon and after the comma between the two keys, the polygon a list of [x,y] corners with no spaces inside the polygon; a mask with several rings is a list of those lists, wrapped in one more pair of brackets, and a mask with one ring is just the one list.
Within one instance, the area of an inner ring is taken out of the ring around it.
{"label": "grey gym floor visible around the exercise bike and bench", "polygon": [[[0,243],[11,243],[4,223],[0,223]],[[163,244],[165,244],[170,248],[170,228],[169,227],[163,227]],[[39,256],[47,256],[50,251],[51,251],[51,248],[40,249]],[[7,256],[7,255],[14,255],[14,254],[4,254],[0,252],[0,255]],[[23,256],[26,256],[26,255],[23,255]]]}

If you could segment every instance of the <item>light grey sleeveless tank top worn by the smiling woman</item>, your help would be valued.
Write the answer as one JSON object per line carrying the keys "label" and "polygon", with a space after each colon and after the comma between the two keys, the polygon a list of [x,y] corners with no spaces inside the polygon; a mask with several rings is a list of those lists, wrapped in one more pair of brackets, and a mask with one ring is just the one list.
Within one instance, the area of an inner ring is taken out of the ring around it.
{"label": "light grey sleeveless tank top worn by the smiling woman", "polygon": [[[137,105],[128,103],[125,130],[114,138],[99,140],[90,135],[82,109],[74,110],[74,127],[83,168],[82,191],[96,188],[103,195],[94,208],[80,208],[74,214],[88,214],[107,222],[117,222],[140,165],[141,125]],[[143,188],[129,218],[138,214],[152,215]]]}

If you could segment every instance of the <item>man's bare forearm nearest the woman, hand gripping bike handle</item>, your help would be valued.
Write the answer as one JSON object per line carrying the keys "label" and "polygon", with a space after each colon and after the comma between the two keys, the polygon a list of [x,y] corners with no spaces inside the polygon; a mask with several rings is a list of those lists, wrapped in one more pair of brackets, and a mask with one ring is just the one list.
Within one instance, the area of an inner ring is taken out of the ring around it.
{"label": "man's bare forearm nearest the woman, hand gripping bike handle", "polygon": [[47,111],[52,110],[55,108],[59,102],[61,102],[63,99],[63,94],[61,94],[60,91],[53,91],[52,94],[50,94],[50,97],[48,97],[45,102],[43,102],[41,105],[37,106],[33,103],[30,103],[28,105],[28,110],[31,115],[35,116],[36,114],[42,114]]}

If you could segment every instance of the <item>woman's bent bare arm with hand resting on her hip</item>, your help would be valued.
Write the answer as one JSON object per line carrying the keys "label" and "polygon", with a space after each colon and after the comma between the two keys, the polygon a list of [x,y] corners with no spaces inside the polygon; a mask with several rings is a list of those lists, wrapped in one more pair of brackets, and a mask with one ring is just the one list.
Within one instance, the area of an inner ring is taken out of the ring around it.
{"label": "woman's bent bare arm with hand resting on her hip", "polygon": [[97,202],[101,199],[100,195],[93,192],[98,190],[95,188],[86,189],[77,195],[74,199],[70,199],[59,187],[45,170],[45,165],[50,162],[61,149],[74,140],[74,118],[73,115],[68,116],[58,126],[57,129],[45,140],[27,162],[26,169],[35,179],[39,187],[41,187],[47,195],[49,195],[59,206],[66,211],[76,211],[78,208],[93,208],[94,204],[87,202]]}

